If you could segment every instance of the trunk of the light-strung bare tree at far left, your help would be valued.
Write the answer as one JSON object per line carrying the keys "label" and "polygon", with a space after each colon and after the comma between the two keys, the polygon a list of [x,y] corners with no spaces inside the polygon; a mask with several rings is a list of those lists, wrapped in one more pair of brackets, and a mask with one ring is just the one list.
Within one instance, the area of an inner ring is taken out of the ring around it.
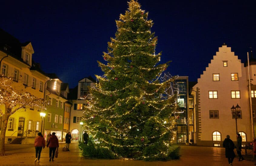
{"label": "trunk of the light-strung bare tree at far left", "polygon": [[11,112],[10,108],[6,108],[5,106],[5,114],[3,115],[3,125],[2,125],[1,134],[0,134],[0,156],[5,155],[5,132],[7,129],[8,119],[11,116],[10,112]]}

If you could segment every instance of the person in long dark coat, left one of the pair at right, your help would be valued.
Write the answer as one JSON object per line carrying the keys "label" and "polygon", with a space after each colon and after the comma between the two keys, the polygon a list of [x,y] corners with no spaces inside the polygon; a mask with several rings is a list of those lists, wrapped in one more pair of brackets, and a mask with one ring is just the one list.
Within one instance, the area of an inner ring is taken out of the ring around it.
{"label": "person in long dark coat, left one of the pair at right", "polygon": [[226,158],[228,158],[228,164],[232,166],[233,160],[235,158],[235,153],[234,153],[235,145],[234,145],[234,142],[230,139],[229,135],[227,135],[227,138],[224,139],[223,147],[225,148]]}

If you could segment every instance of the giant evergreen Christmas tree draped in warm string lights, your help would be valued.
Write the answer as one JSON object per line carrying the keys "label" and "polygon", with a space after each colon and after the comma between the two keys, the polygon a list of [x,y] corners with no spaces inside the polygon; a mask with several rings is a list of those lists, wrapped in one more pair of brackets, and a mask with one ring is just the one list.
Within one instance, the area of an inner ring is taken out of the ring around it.
{"label": "giant evergreen Christmas tree draped in warm string lights", "polygon": [[151,33],[152,20],[138,2],[128,5],[103,55],[107,64],[98,62],[105,74],[96,75],[98,84],[90,89],[84,127],[91,138],[84,150],[99,158],[172,158],[174,78],[159,80],[169,62],[158,64],[161,53],[155,54],[158,39]]}

